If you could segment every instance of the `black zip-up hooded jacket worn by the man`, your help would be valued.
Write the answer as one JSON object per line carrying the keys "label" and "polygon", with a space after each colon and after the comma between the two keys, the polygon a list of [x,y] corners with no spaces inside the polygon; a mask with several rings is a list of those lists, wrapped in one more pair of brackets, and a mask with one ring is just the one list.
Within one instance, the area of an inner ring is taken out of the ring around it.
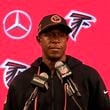
{"label": "black zip-up hooded jacket worn by the man", "polygon": [[[110,110],[109,96],[104,93],[106,88],[97,71],[70,56],[67,56],[65,63],[71,69],[71,78],[81,93],[81,97],[74,94],[74,98],[82,109]],[[26,100],[35,88],[30,82],[34,74],[37,74],[38,66],[40,66],[40,73],[46,72],[49,75],[49,89],[46,91],[39,90],[37,110],[64,110],[65,93],[63,84],[61,84],[56,74],[51,77],[50,70],[42,62],[42,58],[37,59],[29,69],[13,80],[9,87],[4,110],[23,110]],[[29,110],[34,110],[33,106],[34,101]],[[68,95],[66,110],[80,110]]]}

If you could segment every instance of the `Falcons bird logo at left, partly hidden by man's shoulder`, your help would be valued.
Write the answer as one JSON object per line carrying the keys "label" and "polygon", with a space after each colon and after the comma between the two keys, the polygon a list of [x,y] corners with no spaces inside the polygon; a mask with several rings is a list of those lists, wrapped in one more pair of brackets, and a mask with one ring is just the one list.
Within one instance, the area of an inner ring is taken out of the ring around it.
{"label": "Falcons bird logo at left, partly hidden by man's shoulder", "polygon": [[12,80],[15,78],[15,76],[17,76],[18,74],[29,68],[29,65],[7,59],[0,67],[5,68],[4,83],[5,86],[8,88]]}

